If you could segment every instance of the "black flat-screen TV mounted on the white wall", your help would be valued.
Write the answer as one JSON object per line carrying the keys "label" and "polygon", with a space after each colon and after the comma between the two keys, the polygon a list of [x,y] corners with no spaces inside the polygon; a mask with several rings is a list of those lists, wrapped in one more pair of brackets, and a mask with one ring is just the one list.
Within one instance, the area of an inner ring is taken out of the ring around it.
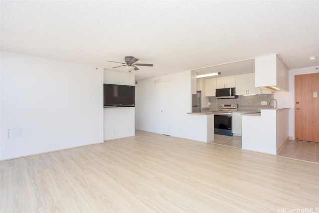
{"label": "black flat-screen TV mounted on the white wall", "polygon": [[135,106],[135,87],[104,84],[104,107]]}

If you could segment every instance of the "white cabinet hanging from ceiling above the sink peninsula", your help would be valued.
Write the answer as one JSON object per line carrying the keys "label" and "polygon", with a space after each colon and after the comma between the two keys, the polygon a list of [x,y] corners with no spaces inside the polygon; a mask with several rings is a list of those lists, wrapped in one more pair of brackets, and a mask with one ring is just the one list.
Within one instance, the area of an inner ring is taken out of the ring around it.
{"label": "white cabinet hanging from ceiling above the sink peninsula", "polygon": [[288,91],[288,69],[276,54],[255,58],[255,85]]}

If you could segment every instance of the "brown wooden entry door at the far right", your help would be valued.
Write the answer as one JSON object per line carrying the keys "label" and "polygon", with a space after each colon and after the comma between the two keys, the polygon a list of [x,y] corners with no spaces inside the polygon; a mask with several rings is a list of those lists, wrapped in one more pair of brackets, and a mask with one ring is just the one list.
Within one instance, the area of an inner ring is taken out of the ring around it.
{"label": "brown wooden entry door at the far right", "polygon": [[295,139],[319,142],[319,73],[295,75]]}

